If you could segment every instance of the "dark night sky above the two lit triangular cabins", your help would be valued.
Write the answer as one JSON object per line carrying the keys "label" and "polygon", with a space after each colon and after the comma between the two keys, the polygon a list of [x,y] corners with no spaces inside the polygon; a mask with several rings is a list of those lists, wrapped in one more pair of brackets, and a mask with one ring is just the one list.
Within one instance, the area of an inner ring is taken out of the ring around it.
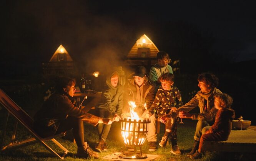
{"label": "dark night sky above the two lit triangular cabins", "polygon": [[[208,54],[230,62],[256,59],[253,0],[2,3],[1,70],[36,72],[60,44],[84,68],[119,65],[143,34],[174,59],[186,56],[175,52],[177,46],[207,46],[208,40]],[[203,43],[193,44],[195,35]]]}

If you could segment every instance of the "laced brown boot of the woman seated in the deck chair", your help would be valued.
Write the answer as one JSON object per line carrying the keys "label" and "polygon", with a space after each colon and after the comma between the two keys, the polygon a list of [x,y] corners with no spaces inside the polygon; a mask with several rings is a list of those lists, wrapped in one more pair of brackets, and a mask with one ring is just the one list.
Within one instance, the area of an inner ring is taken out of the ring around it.
{"label": "laced brown boot of the woman seated in the deck chair", "polygon": [[99,155],[97,152],[93,151],[90,146],[85,142],[83,146],[77,148],[76,152],[77,158],[95,158],[98,159]]}

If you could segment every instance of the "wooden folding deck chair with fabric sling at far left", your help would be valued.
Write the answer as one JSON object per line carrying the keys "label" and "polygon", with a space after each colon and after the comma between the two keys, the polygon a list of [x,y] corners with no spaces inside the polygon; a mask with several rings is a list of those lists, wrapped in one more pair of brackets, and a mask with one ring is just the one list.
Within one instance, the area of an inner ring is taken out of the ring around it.
{"label": "wooden folding deck chair with fabric sling at far left", "polygon": [[[10,99],[10,97],[8,97],[8,95],[5,94],[1,89],[0,89],[0,105],[7,109],[7,115],[5,118],[5,123],[3,125],[4,126],[3,133],[2,133],[2,138],[1,138],[1,142],[0,142],[1,151],[15,149],[15,148],[19,148],[19,147],[23,147],[23,146],[27,146],[27,145],[32,145],[35,143],[40,143],[47,150],[49,150],[52,154],[54,154],[55,156],[57,156],[60,159],[64,159],[65,155],[68,153],[68,150],[54,138],[65,136],[65,133],[60,133],[58,135],[50,136],[47,138],[41,138],[32,128],[34,120],[26,112],[24,112],[22,110],[22,108],[20,108],[12,99]],[[9,117],[10,113],[13,115],[13,117],[16,118],[16,122],[15,122],[14,130],[13,130],[11,143],[8,144],[7,146],[3,146],[5,130],[6,130],[7,121],[8,121],[8,117]],[[27,140],[20,141],[20,142],[14,142],[18,122],[21,123],[23,126],[25,126],[25,128],[27,128],[29,133],[32,135],[32,138],[29,138]],[[52,148],[50,148],[50,146],[48,146],[45,143],[45,141],[48,141],[48,140],[52,140],[53,143],[55,143],[58,147],[60,147],[64,151],[64,154],[62,156],[60,156]]]}

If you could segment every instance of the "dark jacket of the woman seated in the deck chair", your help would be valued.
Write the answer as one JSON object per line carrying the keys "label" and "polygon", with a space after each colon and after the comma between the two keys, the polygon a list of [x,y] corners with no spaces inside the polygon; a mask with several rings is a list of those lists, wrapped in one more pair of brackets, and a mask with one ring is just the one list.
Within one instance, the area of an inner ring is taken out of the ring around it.
{"label": "dark jacket of the woman seated in the deck chair", "polygon": [[65,94],[51,95],[34,116],[34,130],[42,137],[54,135],[60,123],[68,116],[80,118],[96,126],[100,118],[79,110],[71,99]]}

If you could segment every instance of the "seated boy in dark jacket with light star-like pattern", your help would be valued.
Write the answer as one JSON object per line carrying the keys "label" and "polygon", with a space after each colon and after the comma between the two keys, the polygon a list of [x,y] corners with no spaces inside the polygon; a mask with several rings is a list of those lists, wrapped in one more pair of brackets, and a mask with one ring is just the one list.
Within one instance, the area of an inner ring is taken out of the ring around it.
{"label": "seated boy in dark jacket with light star-like pattern", "polygon": [[[183,105],[181,100],[181,94],[178,88],[173,86],[174,75],[171,73],[165,73],[159,77],[159,82],[161,82],[161,87],[156,92],[156,97],[153,104],[150,107],[149,115],[157,112],[158,117],[162,117],[173,110],[181,107]],[[180,148],[177,145],[177,118],[170,118],[165,123],[166,131],[162,137],[159,145],[165,147],[168,138],[171,138],[172,149],[171,153],[181,154]]]}

